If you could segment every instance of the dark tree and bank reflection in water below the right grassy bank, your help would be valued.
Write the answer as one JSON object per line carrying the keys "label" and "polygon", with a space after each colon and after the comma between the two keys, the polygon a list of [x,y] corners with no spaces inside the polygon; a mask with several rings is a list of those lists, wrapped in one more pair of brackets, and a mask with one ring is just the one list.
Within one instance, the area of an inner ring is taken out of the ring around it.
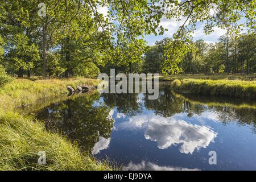
{"label": "dark tree and bank reflection in water below the right grassy bank", "polygon": [[[207,103],[210,102],[208,106]],[[214,105],[214,102],[216,105]],[[253,101],[246,102],[236,98],[210,97],[181,95],[171,91],[170,87],[164,85],[159,88],[159,97],[156,100],[148,100],[148,94],[144,97],[144,106],[148,110],[154,110],[155,114],[162,117],[171,117],[176,113],[187,113],[188,117],[193,114],[200,115],[204,111],[210,110],[217,114],[217,120],[223,123],[237,121],[247,123],[255,127],[256,110],[247,107],[221,106],[220,103],[236,104],[254,104]],[[255,129],[254,129],[255,130]]]}

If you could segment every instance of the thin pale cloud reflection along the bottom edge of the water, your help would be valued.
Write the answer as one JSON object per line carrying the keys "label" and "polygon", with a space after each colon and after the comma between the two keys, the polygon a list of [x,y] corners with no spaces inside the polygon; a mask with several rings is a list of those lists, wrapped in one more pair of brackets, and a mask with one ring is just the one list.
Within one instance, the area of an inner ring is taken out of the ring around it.
{"label": "thin pale cloud reflection along the bottom edge of the water", "polygon": [[127,171],[199,171],[199,169],[188,169],[181,167],[158,166],[151,162],[144,162],[139,164],[129,163],[128,166],[122,168]]}

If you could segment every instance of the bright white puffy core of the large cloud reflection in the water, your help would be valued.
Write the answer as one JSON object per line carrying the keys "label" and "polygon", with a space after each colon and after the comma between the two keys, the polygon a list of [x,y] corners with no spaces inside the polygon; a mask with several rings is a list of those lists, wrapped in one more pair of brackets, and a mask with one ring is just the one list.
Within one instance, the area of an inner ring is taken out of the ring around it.
{"label": "bright white puffy core of the large cloud reflection in the water", "polygon": [[216,136],[209,127],[192,125],[182,120],[150,123],[144,133],[144,137],[157,142],[160,149],[183,143],[180,152],[185,154],[192,154],[200,147],[206,148]]}

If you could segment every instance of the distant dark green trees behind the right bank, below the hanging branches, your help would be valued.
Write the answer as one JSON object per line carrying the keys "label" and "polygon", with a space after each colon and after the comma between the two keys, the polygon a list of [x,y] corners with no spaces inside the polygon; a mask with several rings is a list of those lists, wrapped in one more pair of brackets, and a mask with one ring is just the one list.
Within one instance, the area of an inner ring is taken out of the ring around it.
{"label": "distant dark green trees behind the right bank, below the hanging branches", "polygon": [[[221,36],[217,43],[208,44],[199,39],[192,42],[192,48],[181,57],[177,64],[177,73],[241,73],[256,72],[256,36],[242,34],[231,38],[228,34]],[[157,41],[144,54],[140,67],[141,72],[161,73],[162,64],[166,57],[164,49],[170,38]]]}

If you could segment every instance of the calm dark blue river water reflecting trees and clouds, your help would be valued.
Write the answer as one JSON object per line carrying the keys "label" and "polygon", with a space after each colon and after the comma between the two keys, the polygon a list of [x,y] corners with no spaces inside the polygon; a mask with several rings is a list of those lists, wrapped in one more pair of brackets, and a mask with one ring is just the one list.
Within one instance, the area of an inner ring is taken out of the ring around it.
{"label": "calm dark blue river water reflecting trees and clouds", "polygon": [[25,110],[122,169],[256,170],[255,108],[250,100],[176,93],[162,82],[157,100],[94,90]]}

